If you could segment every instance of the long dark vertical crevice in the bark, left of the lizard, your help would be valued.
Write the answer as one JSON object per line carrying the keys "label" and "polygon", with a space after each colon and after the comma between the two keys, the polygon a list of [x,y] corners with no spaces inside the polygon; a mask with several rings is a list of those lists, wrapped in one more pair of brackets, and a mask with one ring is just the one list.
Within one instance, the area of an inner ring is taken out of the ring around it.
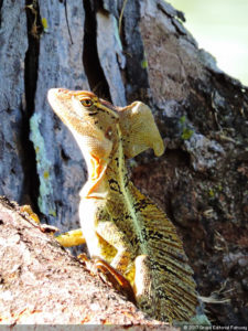
{"label": "long dark vertical crevice in the bark, left of the lizard", "polygon": [[43,25],[40,15],[39,2],[25,1],[28,51],[24,60],[24,94],[25,105],[22,117],[22,146],[23,146],[23,168],[24,168],[24,191],[26,197],[24,203],[30,203],[35,212],[39,212],[39,188],[40,179],[36,168],[35,150],[30,140],[30,119],[35,109],[35,93],[39,72],[40,36]]}

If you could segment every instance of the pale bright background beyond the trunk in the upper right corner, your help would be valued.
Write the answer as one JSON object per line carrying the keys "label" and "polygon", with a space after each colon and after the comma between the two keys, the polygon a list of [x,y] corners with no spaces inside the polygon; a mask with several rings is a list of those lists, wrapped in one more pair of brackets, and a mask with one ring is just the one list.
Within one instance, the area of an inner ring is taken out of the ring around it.
{"label": "pale bright background beyond the trunk in the upper right corner", "polygon": [[218,66],[248,85],[248,1],[170,0],[185,13],[185,26]]}

